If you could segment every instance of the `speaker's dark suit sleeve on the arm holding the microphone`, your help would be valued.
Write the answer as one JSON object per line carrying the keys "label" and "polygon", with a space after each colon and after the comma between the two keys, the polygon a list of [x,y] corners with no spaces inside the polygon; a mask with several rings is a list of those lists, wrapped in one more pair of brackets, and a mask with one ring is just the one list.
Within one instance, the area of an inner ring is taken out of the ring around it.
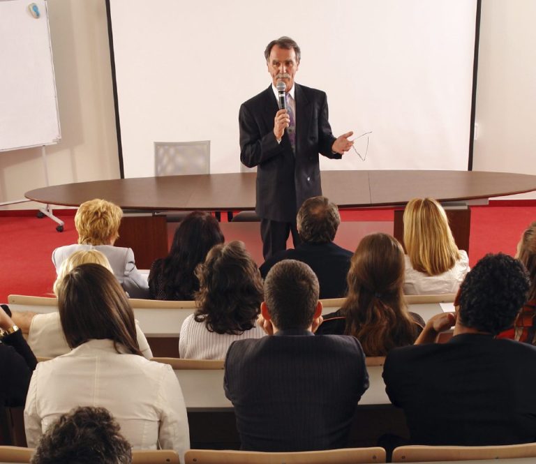
{"label": "speaker's dark suit sleeve on the arm holding the microphone", "polygon": [[257,121],[258,117],[246,104],[241,105],[238,115],[240,160],[247,167],[255,167],[283,153],[283,144],[277,143],[273,130],[267,128],[266,133],[261,133],[263,124]]}

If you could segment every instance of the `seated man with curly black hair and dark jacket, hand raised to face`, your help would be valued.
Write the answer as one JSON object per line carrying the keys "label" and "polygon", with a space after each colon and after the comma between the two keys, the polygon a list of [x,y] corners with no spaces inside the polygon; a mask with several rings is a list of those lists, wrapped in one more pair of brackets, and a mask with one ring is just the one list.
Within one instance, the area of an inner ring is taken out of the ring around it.
{"label": "seated man with curly black hair and dark jacket, hand raised to face", "polygon": [[[483,446],[536,440],[536,347],[494,338],[525,303],[528,278],[507,255],[470,271],[454,313],[427,322],[413,345],[392,350],[387,394],[402,407],[414,444]],[[433,343],[454,325],[448,343]]]}

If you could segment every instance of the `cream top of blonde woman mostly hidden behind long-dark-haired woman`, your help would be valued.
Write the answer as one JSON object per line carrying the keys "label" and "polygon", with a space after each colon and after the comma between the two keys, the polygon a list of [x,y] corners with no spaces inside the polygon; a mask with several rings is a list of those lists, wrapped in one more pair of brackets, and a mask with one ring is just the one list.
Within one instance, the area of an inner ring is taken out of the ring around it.
{"label": "cream top of blonde woman mostly hidden behind long-dark-haired woman", "polygon": [[[137,344],[140,346],[140,351],[144,357],[151,359],[153,357],[151,347],[149,347],[147,338],[140,329],[140,324],[135,322]],[[36,314],[32,318],[27,342],[36,356],[44,358],[55,358],[70,352],[57,311]]]}

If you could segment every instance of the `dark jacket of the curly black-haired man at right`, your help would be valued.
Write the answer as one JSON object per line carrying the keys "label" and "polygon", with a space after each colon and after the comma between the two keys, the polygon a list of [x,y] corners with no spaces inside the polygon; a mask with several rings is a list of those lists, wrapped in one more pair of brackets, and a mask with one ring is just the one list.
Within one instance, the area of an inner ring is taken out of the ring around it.
{"label": "dark jacket of the curly black-haired man at right", "polygon": [[402,407],[412,443],[536,441],[536,347],[491,335],[392,350],[383,378]]}

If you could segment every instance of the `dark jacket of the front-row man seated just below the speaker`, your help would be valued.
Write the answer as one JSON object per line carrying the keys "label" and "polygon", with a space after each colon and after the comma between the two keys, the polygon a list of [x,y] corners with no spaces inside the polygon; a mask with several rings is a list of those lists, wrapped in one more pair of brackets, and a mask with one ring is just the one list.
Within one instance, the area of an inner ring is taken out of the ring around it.
{"label": "dark jacket of the front-row man seated just below the speaker", "polygon": [[260,267],[265,278],[274,265],[283,260],[298,260],[308,264],[320,283],[319,298],[342,298],[346,294],[346,274],[350,269],[352,252],[329,242],[327,244],[299,244],[294,250],[284,250],[269,257]]}

